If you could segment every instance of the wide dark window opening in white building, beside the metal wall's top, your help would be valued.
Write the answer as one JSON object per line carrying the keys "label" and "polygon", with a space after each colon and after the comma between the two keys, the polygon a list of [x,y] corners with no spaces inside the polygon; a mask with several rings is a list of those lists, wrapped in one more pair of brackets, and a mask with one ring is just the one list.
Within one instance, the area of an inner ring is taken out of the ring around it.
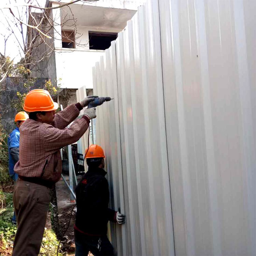
{"label": "wide dark window opening in white building, beside the metal wall's top", "polygon": [[117,33],[91,32],[89,31],[89,48],[94,50],[105,50],[116,40]]}

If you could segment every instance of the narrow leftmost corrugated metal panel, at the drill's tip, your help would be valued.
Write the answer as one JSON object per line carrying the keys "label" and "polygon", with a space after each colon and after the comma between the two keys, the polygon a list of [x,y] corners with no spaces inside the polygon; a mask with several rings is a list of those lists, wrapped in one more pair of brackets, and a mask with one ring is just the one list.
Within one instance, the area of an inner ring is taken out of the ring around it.
{"label": "narrow leftmost corrugated metal panel, at the drill's tip", "polygon": [[[114,42],[112,44],[114,45]],[[115,101],[118,103],[115,45],[106,50],[105,62],[108,63],[107,73],[104,72],[103,58],[96,64],[96,68],[93,68],[94,92],[100,96],[110,95],[114,101],[104,103],[104,108],[97,108],[97,116],[103,117],[96,118],[97,143],[104,148],[107,156],[105,169],[111,184],[110,207],[115,210],[120,208],[120,211],[124,212],[118,104],[115,104]],[[112,120],[111,126],[109,120]],[[114,227],[112,224],[111,231],[109,236],[118,254],[126,254],[125,226]]]}

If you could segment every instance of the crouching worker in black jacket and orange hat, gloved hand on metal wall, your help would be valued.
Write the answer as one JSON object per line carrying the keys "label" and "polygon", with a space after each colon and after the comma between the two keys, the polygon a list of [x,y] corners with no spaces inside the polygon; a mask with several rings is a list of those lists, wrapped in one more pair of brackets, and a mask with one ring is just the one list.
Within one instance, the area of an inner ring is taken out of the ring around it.
{"label": "crouching worker in black jacket and orange hat, gloved hand on metal wall", "polygon": [[104,152],[98,145],[86,150],[88,171],[75,189],[76,221],[75,255],[114,255],[114,249],[106,236],[108,221],[123,224],[125,215],[109,209],[109,184],[105,178]]}

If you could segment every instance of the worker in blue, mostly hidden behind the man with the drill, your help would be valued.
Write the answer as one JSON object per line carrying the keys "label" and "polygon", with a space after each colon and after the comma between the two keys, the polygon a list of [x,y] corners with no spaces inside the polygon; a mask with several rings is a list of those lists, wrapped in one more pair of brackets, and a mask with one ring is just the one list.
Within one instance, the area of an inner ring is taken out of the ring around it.
{"label": "worker in blue, mostly hidden behind the man with the drill", "polygon": [[[19,160],[19,127],[28,119],[28,114],[24,111],[16,114],[14,121],[17,127],[10,133],[8,137],[8,153],[9,153],[9,174],[14,182],[18,179],[18,174],[14,172],[15,163]],[[15,213],[12,217],[12,223],[16,224]]]}

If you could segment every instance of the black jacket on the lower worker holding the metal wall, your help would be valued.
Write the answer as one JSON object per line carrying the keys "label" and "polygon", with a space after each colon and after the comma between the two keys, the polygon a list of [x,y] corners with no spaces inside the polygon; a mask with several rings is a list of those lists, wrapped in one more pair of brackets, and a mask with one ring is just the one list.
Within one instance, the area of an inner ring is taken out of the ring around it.
{"label": "black jacket on the lower worker holding the metal wall", "polygon": [[109,184],[101,168],[89,168],[75,189],[75,229],[91,235],[106,235],[108,221],[116,212],[109,209]]}

